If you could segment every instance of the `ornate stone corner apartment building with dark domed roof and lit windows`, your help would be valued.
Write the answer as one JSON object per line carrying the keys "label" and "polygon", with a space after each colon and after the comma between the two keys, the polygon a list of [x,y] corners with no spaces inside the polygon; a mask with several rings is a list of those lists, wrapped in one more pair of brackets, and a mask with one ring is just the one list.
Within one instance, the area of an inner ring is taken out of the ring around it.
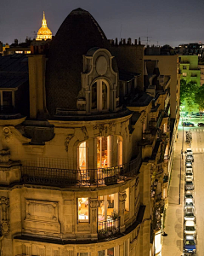
{"label": "ornate stone corner apartment building with dark domed roof and lit windows", "polygon": [[0,57],[3,255],[161,255],[178,108],[159,65],[83,9]]}

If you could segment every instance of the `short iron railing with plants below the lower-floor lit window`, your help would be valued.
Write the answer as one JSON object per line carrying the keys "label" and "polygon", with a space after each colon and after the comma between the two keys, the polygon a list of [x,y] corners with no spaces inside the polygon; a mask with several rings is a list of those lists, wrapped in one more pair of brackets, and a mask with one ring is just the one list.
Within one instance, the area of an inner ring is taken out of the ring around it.
{"label": "short iron railing with plants below the lower-floor lit window", "polygon": [[120,233],[120,217],[98,223],[98,239],[115,236],[118,233]]}

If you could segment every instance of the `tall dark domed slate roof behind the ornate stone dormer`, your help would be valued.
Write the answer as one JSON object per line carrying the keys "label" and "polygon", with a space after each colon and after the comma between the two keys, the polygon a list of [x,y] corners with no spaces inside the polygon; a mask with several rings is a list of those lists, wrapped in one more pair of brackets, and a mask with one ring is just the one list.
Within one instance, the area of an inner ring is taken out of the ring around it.
{"label": "tall dark domed slate roof behind the ornate stone dormer", "polygon": [[[77,96],[82,90],[82,55],[94,47],[110,50],[105,33],[88,11],[71,11],[59,27],[48,55],[46,94],[51,115],[56,108],[77,108]],[[114,59],[113,66],[117,72]]]}

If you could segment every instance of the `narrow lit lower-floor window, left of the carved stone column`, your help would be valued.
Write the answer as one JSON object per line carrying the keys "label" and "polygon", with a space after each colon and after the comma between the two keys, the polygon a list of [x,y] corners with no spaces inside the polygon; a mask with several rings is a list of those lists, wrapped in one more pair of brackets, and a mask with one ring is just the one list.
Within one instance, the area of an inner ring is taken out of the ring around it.
{"label": "narrow lit lower-floor window, left of the carved stone column", "polygon": [[88,197],[78,198],[78,222],[88,222],[89,218],[89,202]]}

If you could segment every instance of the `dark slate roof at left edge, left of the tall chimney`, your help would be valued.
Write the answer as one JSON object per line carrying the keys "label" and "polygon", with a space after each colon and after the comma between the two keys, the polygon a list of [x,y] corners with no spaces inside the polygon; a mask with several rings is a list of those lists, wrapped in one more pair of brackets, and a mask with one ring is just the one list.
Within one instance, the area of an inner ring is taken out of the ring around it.
{"label": "dark slate roof at left edge, left of the tall chimney", "polygon": [[28,60],[26,55],[0,56],[0,88],[14,89],[28,82]]}

